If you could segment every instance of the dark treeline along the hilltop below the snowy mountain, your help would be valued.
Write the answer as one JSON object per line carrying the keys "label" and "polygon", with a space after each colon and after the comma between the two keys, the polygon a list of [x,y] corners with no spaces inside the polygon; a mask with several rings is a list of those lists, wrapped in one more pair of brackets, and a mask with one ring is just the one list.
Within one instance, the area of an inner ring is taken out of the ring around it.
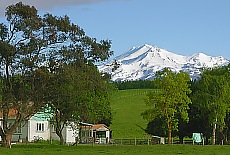
{"label": "dark treeline along the hilltop below the snowy mountain", "polygon": [[118,81],[115,85],[119,90],[125,89],[153,89],[154,85],[151,80],[136,80],[136,81]]}

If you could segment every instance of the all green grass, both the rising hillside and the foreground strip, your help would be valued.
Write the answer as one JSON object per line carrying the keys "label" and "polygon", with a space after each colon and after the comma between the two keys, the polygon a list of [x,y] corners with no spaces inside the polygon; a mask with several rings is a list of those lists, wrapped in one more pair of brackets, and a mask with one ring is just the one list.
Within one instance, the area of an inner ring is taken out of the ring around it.
{"label": "all green grass, both the rising hillside and the foreground strip", "polygon": [[[144,98],[150,90],[118,91],[111,97],[113,110],[113,138],[146,138],[147,121],[141,117],[146,106]],[[0,155],[229,155],[229,145],[83,145],[60,146],[58,142],[13,145],[11,149],[0,147]]]}

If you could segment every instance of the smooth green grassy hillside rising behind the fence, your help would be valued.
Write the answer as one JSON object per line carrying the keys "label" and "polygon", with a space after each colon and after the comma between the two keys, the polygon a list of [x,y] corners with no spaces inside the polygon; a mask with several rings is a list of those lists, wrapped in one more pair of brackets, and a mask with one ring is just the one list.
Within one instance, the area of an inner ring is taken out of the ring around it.
{"label": "smooth green grassy hillside rising behind the fence", "polygon": [[141,116],[146,109],[144,98],[150,89],[119,90],[111,97],[113,138],[143,138],[147,121]]}

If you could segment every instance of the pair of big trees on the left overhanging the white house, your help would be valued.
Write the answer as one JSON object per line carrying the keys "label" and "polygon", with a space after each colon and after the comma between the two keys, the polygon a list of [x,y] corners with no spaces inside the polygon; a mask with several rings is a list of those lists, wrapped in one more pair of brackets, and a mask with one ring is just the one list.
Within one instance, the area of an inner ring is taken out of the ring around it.
{"label": "pair of big trees on the left overhanging the white house", "polygon": [[[23,121],[46,104],[53,108],[56,133],[67,121],[111,123],[107,82],[95,62],[108,59],[111,41],[91,38],[68,16],[38,15],[33,6],[10,5],[0,23],[0,126],[2,145]],[[16,111],[9,124],[9,112]]]}

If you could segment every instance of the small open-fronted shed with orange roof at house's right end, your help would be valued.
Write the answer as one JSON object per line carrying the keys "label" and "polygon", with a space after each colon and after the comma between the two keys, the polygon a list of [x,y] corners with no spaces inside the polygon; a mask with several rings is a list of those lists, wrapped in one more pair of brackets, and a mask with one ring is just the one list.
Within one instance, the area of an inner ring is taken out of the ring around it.
{"label": "small open-fronted shed with orange roof at house's right end", "polygon": [[107,144],[112,138],[112,131],[105,124],[96,124],[93,126],[93,136],[95,143]]}

